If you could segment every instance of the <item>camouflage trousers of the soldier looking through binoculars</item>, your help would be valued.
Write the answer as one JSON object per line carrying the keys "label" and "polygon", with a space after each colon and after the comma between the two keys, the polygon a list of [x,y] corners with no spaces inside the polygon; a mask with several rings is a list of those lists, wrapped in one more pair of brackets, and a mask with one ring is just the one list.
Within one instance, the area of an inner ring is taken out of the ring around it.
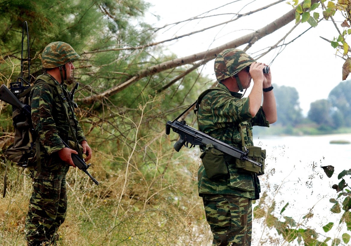
{"label": "camouflage trousers of the soldier looking through binoculars", "polygon": [[251,245],[251,199],[234,195],[219,198],[213,195],[204,197],[203,201],[206,220],[213,233],[212,245]]}

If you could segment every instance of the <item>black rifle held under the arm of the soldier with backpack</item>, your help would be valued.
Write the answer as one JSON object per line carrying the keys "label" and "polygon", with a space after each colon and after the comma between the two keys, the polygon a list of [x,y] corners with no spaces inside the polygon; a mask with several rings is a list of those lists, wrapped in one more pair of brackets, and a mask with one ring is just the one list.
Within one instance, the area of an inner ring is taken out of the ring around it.
{"label": "black rifle held under the arm of the soldier with backpack", "polygon": [[[18,108],[21,112],[23,112],[26,116],[31,118],[31,106],[28,104],[21,103],[18,98],[5,86],[5,84],[2,84],[0,86],[0,100],[12,105],[13,107]],[[32,127],[31,127],[32,128]],[[69,148],[69,146],[62,141],[62,143]],[[84,160],[79,158],[78,155],[72,154],[72,160],[75,166],[85,172],[95,184],[99,185],[99,182],[94,179],[91,174],[87,171],[87,169],[90,166],[90,163],[87,165]]]}

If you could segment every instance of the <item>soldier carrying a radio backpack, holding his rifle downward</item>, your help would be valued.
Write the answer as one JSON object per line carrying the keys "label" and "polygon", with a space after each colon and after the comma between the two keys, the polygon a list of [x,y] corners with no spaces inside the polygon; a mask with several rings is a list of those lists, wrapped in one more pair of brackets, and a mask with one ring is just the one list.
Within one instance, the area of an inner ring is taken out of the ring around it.
{"label": "soldier carrying a radio backpack, holding his rifle downward", "polygon": [[[77,154],[77,151],[65,148],[62,140],[67,143],[77,139],[83,147],[85,160],[92,156],[64,85],[64,81],[71,78],[72,62],[78,58],[79,55],[68,43],[47,45],[41,58],[46,71],[38,76],[31,91],[32,121],[40,142],[40,162],[31,167],[33,193],[25,226],[27,245],[30,246],[55,244],[57,230],[65,221],[66,173],[70,165],[75,167],[71,154]],[[67,122],[67,115],[70,122]],[[69,124],[75,136],[71,136]]]}

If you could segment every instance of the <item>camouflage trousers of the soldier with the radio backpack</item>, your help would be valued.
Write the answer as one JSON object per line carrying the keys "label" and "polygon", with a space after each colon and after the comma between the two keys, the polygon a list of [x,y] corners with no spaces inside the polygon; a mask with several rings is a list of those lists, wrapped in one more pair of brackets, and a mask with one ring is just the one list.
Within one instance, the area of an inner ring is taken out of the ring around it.
{"label": "camouflage trousers of the soldier with the radio backpack", "polygon": [[33,179],[33,193],[26,217],[27,245],[54,243],[67,211],[66,175],[54,179]]}

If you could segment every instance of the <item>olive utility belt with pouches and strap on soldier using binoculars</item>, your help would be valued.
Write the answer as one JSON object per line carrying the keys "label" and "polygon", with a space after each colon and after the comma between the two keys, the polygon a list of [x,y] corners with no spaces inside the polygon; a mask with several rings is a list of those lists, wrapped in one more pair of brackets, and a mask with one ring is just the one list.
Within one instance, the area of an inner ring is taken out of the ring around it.
{"label": "olive utility belt with pouches and strap on soldier using binoculars", "polygon": [[216,179],[227,175],[229,173],[229,166],[237,168],[239,172],[242,172],[244,174],[264,174],[266,150],[263,150],[257,146],[245,147],[244,136],[240,127],[239,132],[243,144],[243,151],[247,152],[247,150],[249,150],[247,152],[249,159],[262,164],[262,166],[259,167],[246,160],[241,160],[227,155],[226,153],[215,149],[212,144],[207,144],[204,152],[200,155],[200,158],[202,160],[208,178]]}

